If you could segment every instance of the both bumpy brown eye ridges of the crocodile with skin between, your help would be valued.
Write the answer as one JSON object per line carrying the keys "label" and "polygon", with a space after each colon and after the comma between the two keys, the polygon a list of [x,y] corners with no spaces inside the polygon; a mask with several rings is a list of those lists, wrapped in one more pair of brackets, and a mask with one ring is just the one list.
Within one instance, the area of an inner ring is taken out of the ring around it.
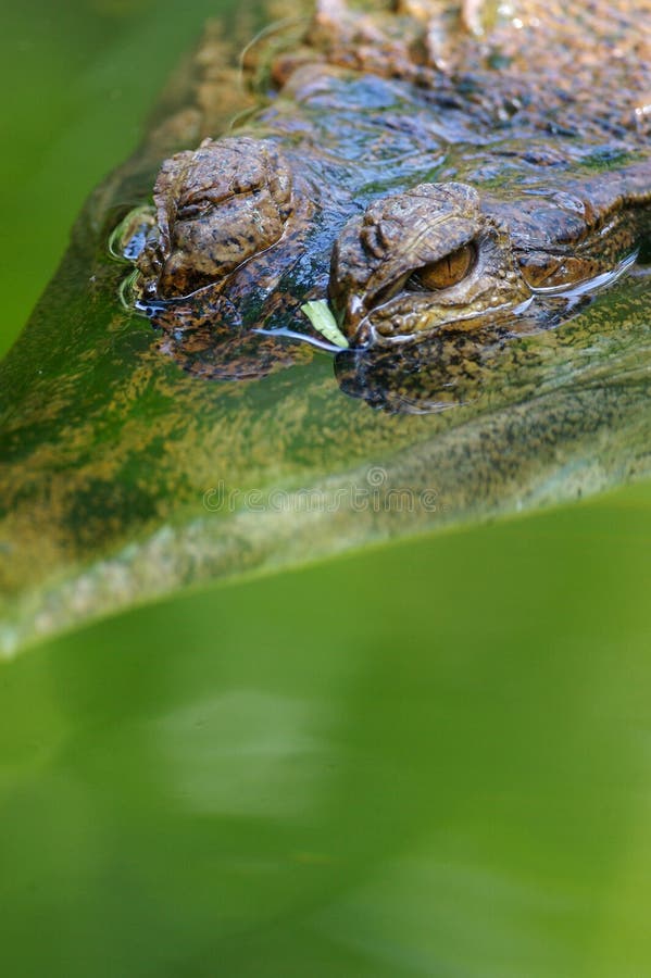
{"label": "both bumpy brown eye ridges of the crocodile with skin between", "polygon": [[390,348],[448,328],[510,327],[535,296],[543,310],[631,254],[624,217],[603,225],[569,188],[523,185],[498,200],[427,183],[367,203],[325,179],[327,161],[317,178],[314,159],[230,137],[165,162],[137,258],[137,291],[157,325],[210,325],[215,343],[236,324],[309,333],[301,305],[327,298],[350,346]]}

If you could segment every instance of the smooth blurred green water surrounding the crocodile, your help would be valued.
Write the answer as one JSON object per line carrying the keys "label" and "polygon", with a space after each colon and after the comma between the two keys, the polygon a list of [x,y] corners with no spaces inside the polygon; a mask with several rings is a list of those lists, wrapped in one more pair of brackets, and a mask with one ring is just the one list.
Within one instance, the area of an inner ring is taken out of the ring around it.
{"label": "smooth blurred green water surrounding the crocodile", "polygon": [[[188,9],[4,14],[4,347],[214,3]],[[2,973],[651,974],[650,503],[212,588],[2,665]]]}

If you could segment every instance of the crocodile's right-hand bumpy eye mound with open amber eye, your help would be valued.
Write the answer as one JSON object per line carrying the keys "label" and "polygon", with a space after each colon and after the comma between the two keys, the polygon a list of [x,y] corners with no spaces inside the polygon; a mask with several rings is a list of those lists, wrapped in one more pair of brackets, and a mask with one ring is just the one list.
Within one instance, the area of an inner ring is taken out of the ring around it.
{"label": "crocodile's right-hand bumpy eye mound with open amber eye", "polygon": [[330,301],[354,346],[454,323],[476,328],[531,297],[504,225],[464,184],[421,184],[375,201],[333,252]]}

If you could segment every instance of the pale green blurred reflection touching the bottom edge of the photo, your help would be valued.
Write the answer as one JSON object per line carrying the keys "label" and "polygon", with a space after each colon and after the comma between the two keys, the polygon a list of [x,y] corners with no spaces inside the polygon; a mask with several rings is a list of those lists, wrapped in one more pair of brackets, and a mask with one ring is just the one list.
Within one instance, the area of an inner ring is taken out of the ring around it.
{"label": "pale green blurred reflection touching the bottom edge of the photo", "polygon": [[563,948],[554,924],[580,918],[580,901],[553,881],[540,887],[503,866],[484,864],[480,854],[468,858],[473,840],[467,837],[447,835],[443,844],[443,857],[435,839],[429,848],[379,866],[320,915],[318,929],[387,974],[391,968],[483,978],[558,974]]}

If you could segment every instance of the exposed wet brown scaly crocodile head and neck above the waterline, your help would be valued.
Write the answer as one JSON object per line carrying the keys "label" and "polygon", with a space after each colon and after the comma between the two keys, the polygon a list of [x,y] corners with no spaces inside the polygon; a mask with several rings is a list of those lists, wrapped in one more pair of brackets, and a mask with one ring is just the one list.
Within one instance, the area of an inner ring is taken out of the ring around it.
{"label": "exposed wet brown scaly crocodile head and neck above the waterline", "polygon": [[254,330],[315,337],[314,299],[416,371],[440,336],[555,325],[559,296],[646,258],[650,0],[366,8],[322,2],[301,45],[259,51],[268,104],[161,168],[137,293],[195,373],[304,356]]}

